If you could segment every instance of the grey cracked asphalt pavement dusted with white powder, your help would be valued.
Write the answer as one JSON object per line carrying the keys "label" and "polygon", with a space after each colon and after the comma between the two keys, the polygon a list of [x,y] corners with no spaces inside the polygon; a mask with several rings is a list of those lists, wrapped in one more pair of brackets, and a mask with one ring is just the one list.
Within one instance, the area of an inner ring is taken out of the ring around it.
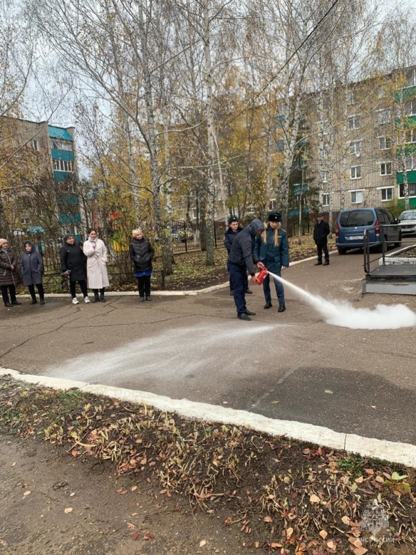
{"label": "grey cracked asphalt pavement dusted with white powder", "polygon": [[[403,304],[413,296],[363,295],[363,255],[331,253],[294,264],[284,278],[354,309]],[[198,294],[137,293],[72,305],[1,308],[0,366],[237,409],[267,417],[416,445],[415,327],[361,330],[330,325],[286,287],[286,312],[263,309],[251,286],[252,321],[236,318],[227,284]],[[355,314],[355,313],[354,313]],[[358,313],[357,313],[358,314]]]}

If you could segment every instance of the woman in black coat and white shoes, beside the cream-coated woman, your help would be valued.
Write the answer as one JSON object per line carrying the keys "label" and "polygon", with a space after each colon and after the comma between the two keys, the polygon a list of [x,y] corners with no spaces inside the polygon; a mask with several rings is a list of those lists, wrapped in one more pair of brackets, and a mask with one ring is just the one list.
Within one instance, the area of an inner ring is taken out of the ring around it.
{"label": "woman in black coat and white shoes, beside the cream-coated woman", "polygon": [[61,271],[62,275],[69,277],[69,290],[71,291],[72,304],[78,305],[76,298],[76,282],[78,282],[85,302],[90,302],[87,292],[87,257],[75,242],[72,234],[64,237],[64,246],[60,248]]}

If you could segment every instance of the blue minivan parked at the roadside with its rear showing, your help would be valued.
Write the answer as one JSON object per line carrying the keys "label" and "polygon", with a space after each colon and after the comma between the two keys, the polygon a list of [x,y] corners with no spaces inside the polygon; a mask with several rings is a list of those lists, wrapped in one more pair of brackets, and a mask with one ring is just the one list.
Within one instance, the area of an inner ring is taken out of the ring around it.
{"label": "blue minivan parked at the roadside with its rear showing", "polygon": [[[352,248],[363,248],[364,231],[369,228],[370,246],[385,250],[389,244],[401,246],[401,228],[398,220],[385,208],[353,208],[341,210],[336,221],[336,247],[340,255]],[[380,227],[378,227],[380,226]]]}

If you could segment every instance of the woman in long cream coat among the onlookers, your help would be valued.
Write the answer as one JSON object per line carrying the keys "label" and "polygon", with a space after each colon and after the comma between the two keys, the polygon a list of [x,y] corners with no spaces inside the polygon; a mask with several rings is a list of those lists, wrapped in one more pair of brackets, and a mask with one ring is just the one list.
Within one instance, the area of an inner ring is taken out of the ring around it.
{"label": "woman in long cream coat among the onlookers", "polygon": [[94,302],[105,302],[105,287],[110,285],[107,276],[107,247],[98,239],[96,230],[88,230],[88,239],[83,245],[83,251],[87,257],[88,287],[94,291]]}

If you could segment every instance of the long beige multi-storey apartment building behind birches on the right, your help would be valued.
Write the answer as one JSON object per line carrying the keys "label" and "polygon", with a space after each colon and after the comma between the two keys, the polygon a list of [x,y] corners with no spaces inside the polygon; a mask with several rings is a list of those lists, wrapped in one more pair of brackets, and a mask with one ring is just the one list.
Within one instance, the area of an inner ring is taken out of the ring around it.
{"label": "long beige multi-storey apartment building behind birches on the right", "polygon": [[322,210],[416,207],[416,68],[316,92],[305,112],[306,180]]}

